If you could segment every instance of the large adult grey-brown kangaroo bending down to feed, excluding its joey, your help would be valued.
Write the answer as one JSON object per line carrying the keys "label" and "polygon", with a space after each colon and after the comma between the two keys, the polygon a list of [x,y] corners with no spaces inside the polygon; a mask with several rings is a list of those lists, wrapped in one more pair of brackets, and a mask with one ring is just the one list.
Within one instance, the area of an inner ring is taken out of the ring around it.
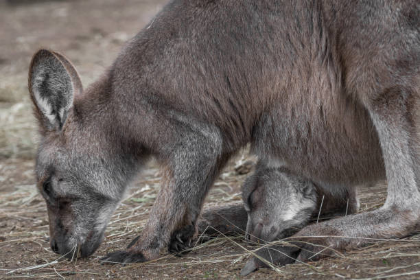
{"label": "large adult grey-brown kangaroo bending down to feed, excluding its joey", "polygon": [[103,260],[155,259],[198,227],[215,177],[247,143],[325,193],[388,180],[383,207],[303,227],[293,237],[305,243],[279,246],[277,264],[407,235],[420,217],[419,65],[415,0],[174,0],[85,90],[67,58],[41,49],[29,89],[51,248],[91,255],[154,156],[164,176],[149,222]]}

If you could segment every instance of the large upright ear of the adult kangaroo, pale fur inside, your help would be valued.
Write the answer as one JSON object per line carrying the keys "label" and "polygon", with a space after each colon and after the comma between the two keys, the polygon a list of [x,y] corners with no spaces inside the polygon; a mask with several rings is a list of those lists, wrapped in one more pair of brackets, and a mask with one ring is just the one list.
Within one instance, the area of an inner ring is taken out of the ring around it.
{"label": "large upright ear of the adult kangaroo, pale fur inside", "polygon": [[46,131],[62,129],[74,96],[83,91],[78,72],[71,62],[62,54],[47,49],[34,54],[28,87],[35,115]]}

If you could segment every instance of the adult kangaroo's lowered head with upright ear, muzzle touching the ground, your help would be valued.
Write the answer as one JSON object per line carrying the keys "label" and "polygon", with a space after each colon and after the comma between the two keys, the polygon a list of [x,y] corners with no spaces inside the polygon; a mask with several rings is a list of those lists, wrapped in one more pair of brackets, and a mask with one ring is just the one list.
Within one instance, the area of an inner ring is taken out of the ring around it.
{"label": "adult kangaroo's lowered head with upright ear, muzzle touching the ground", "polygon": [[47,202],[51,248],[68,257],[89,256],[104,239],[129,172],[110,152],[104,125],[83,115],[97,110],[82,108],[82,83],[69,60],[38,51],[30,65],[29,90],[40,126],[36,178]]}

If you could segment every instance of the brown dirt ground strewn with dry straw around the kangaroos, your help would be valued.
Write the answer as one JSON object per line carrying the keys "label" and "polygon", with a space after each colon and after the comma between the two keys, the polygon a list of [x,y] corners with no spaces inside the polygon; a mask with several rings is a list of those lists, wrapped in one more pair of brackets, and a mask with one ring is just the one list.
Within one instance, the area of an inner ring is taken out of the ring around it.
{"label": "brown dirt ground strewn with dry straw around the kangaroos", "polygon": [[[0,0],[0,279],[240,279],[250,256],[243,236],[220,236],[183,257],[164,253],[146,264],[103,266],[98,259],[124,248],[141,233],[159,191],[159,169],[150,163],[113,215],[106,240],[87,258],[68,261],[47,242],[45,202],[34,187],[36,123],[26,79],[34,51],[49,47],[73,61],[84,86],[104,71],[121,45],[166,3],[152,0]],[[247,174],[224,170],[208,205],[240,202]],[[386,187],[360,189],[361,211],[380,207]],[[420,230],[420,229],[419,229]],[[242,248],[246,248],[244,250]],[[263,269],[246,279],[420,279],[420,234],[378,240],[310,264]]]}

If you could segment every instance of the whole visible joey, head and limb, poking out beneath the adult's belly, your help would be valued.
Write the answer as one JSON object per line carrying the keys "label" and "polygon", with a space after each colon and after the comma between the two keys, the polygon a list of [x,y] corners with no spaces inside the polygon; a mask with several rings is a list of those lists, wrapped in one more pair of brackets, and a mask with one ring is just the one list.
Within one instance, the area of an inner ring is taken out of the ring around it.
{"label": "whole visible joey, head and limb, poking out beneath the adult's belly", "polygon": [[299,178],[281,165],[260,161],[255,174],[242,188],[248,213],[247,237],[254,242],[271,242],[289,237],[302,229],[310,218],[357,213],[355,189],[343,196],[323,192],[310,180]]}

